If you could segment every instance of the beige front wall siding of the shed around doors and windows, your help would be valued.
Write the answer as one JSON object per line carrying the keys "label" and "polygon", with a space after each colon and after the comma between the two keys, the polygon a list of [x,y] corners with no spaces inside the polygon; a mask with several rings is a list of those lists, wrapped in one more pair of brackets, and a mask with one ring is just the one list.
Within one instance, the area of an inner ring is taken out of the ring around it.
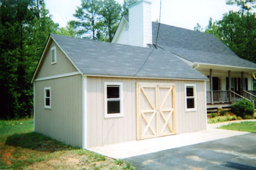
{"label": "beige front wall siding of the shed around doors and windows", "polygon": [[[104,118],[104,82],[109,81],[123,82],[123,117]],[[136,82],[174,83],[177,133],[206,129],[204,81],[87,77],[88,148],[136,140]],[[185,112],[184,84],[197,86],[196,112]]]}

